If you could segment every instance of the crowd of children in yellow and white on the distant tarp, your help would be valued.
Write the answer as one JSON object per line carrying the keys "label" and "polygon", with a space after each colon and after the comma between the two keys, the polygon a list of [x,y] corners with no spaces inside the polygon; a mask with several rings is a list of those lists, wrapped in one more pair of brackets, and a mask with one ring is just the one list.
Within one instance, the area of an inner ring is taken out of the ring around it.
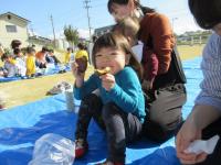
{"label": "crowd of children in yellow and white on the distant tarp", "polygon": [[[11,42],[11,51],[6,52],[3,46],[1,46],[1,61],[3,66],[0,67],[0,77],[21,77],[21,78],[34,78],[45,74],[46,68],[57,67],[59,73],[65,73],[65,68],[70,66],[71,59],[74,59],[75,54],[72,47],[67,47],[63,55],[64,63],[54,54],[53,48],[43,46],[41,51],[36,52],[35,46],[21,47],[21,42],[19,40],[13,40]],[[83,50],[85,50],[84,44],[80,43]],[[77,46],[77,52],[81,51],[81,46]],[[76,52],[76,53],[77,53]],[[84,56],[88,61],[87,51],[85,51]]]}

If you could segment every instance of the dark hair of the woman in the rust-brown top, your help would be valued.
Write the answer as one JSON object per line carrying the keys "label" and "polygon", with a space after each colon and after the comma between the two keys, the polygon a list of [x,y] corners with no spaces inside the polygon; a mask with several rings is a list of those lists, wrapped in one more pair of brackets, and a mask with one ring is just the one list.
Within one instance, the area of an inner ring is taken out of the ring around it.
{"label": "dark hair of the woman in the rust-brown top", "polygon": [[[130,0],[108,0],[107,8],[108,8],[109,13],[113,12],[113,11],[112,11],[112,4],[113,4],[113,3],[117,3],[117,4],[120,4],[120,6],[126,6],[126,4],[128,4],[129,1],[130,1]],[[135,6],[136,6],[137,8],[140,8],[140,9],[141,9],[141,11],[144,12],[144,14],[156,12],[155,9],[151,9],[151,8],[149,8],[149,7],[143,7],[143,6],[139,3],[139,0],[133,0],[133,1],[134,1]]]}

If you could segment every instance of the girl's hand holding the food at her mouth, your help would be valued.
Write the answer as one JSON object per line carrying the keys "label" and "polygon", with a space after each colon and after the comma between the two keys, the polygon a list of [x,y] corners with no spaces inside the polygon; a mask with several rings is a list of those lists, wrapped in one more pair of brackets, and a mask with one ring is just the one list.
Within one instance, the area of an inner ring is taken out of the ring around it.
{"label": "girl's hand holding the food at her mouth", "polygon": [[112,88],[114,88],[115,85],[115,77],[112,74],[105,74],[99,76],[102,79],[102,87],[105,88],[107,91],[109,91]]}

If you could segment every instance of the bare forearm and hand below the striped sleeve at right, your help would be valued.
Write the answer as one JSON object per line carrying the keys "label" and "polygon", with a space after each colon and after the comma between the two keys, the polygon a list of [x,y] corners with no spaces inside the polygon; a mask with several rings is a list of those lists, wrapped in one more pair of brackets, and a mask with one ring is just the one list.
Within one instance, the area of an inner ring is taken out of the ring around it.
{"label": "bare forearm and hand below the striped sleeve at right", "polygon": [[176,140],[177,156],[182,164],[196,164],[203,162],[207,158],[206,153],[193,154],[185,153],[190,143],[201,139],[202,130],[210,123],[221,117],[221,111],[217,108],[206,105],[194,106],[192,112],[179,130]]}

